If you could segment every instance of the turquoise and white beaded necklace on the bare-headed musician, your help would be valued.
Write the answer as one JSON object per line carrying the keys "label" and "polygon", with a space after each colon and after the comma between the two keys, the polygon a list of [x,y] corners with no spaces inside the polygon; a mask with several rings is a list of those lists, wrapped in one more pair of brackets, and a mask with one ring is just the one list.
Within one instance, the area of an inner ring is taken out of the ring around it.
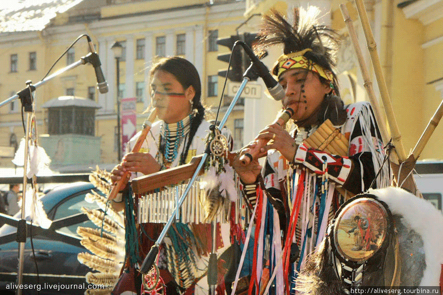
{"label": "turquoise and white beaded necklace on the bare-headed musician", "polygon": [[163,153],[163,162],[172,163],[178,155],[182,140],[190,131],[191,115],[177,123],[162,123],[160,128],[160,150]]}

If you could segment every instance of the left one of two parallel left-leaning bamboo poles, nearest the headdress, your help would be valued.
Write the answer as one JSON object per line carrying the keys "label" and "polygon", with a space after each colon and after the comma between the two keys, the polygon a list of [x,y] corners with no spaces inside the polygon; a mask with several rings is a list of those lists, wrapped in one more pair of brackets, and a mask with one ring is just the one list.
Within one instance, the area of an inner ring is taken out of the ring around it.
{"label": "left one of two parallel left-leaning bamboo poles, nearest the headdress", "polygon": [[364,81],[363,86],[365,87],[366,92],[368,93],[369,101],[371,102],[371,105],[373,107],[373,111],[376,116],[377,124],[380,129],[381,138],[383,140],[383,143],[387,144],[390,136],[389,136],[389,132],[386,128],[386,123],[385,123],[386,120],[385,120],[385,117],[383,116],[382,110],[380,109],[380,104],[377,99],[377,96],[375,95],[374,87],[372,85],[372,80],[369,76],[368,68],[367,68],[366,63],[363,59],[363,54],[362,54],[360,45],[358,43],[357,33],[355,32],[355,28],[352,24],[352,20],[349,17],[349,12],[348,12],[348,8],[346,8],[346,4],[341,3],[339,5],[339,7],[340,7],[340,10],[342,11],[342,15],[343,15],[343,19],[345,20],[345,24],[348,27],[349,37],[352,41],[352,44],[354,45],[355,54],[357,55],[358,63],[360,65],[360,70],[363,75],[363,81]]}

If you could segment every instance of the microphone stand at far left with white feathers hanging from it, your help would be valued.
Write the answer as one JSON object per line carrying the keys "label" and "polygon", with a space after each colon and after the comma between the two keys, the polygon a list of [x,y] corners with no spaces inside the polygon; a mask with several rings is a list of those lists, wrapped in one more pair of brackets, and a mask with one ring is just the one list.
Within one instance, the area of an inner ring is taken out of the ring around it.
{"label": "microphone stand at far left with white feathers hanging from it", "polygon": [[[25,242],[27,237],[27,223],[25,219],[25,205],[26,205],[26,186],[28,185],[28,177],[27,177],[27,170],[28,170],[28,149],[29,149],[29,140],[31,138],[31,121],[32,117],[34,116],[34,109],[33,106],[35,105],[32,97],[32,91],[37,89],[38,87],[46,84],[48,81],[52,80],[53,78],[59,76],[60,74],[71,70],[79,65],[91,63],[93,66],[96,65],[96,62],[98,60],[98,55],[93,52],[89,53],[88,55],[82,57],[76,62],[71,63],[70,65],[67,65],[66,67],[56,71],[52,75],[49,75],[48,77],[44,78],[43,80],[37,82],[36,84],[32,85],[32,82],[30,80],[26,81],[27,87],[20,90],[13,96],[9,97],[8,99],[2,101],[0,103],[0,107],[13,102],[17,98],[20,98],[20,101],[22,103],[22,106],[24,107],[24,112],[27,113],[27,125],[25,129],[25,155],[24,155],[24,164],[23,164],[23,193],[22,193],[22,208],[21,208],[21,219],[18,222],[17,226],[17,238],[16,241],[19,243],[19,259],[18,259],[18,267],[17,267],[17,285],[20,286],[23,284],[23,266],[24,266],[24,255],[25,255]],[[37,136],[36,134],[34,135]],[[21,295],[22,290],[20,288],[17,288],[16,295]]]}

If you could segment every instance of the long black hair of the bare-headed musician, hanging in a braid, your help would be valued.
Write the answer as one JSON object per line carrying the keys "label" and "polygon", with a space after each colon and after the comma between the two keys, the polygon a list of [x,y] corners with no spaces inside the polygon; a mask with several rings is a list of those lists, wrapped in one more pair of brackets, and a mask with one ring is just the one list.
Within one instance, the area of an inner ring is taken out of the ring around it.
{"label": "long black hair of the bare-headed musician, hanging in a braid", "polygon": [[[189,60],[181,57],[169,57],[160,59],[158,63],[156,63],[151,68],[151,76],[153,76],[157,70],[163,70],[174,75],[174,77],[177,79],[178,82],[180,82],[184,89],[192,86],[195,90],[195,95],[192,99],[193,116],[190,122],[190,132],[189,136],[187,136],[186,147],[180,155],[179,165],[183,165],[185,164],[186,158],[188,157],[188,151],[192,143],[192,139],[194,138],[194,135],[197,132],[197,129],[205,116],[205,109],[200,101],[200,76],[198,75],[195,66]],[[164,150],[161,150],[160,152],[164,154]]]}

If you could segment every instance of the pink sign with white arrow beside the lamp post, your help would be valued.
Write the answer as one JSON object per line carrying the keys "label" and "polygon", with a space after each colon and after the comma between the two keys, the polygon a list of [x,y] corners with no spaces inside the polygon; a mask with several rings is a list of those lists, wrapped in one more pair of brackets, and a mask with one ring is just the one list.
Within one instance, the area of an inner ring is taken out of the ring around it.
{"label": "pink sign with white arrow beside the lamp post", "polygon": [[121,101],[123,151],[129,139],[137,133],[136,101],[135,97],[123,98]]}

